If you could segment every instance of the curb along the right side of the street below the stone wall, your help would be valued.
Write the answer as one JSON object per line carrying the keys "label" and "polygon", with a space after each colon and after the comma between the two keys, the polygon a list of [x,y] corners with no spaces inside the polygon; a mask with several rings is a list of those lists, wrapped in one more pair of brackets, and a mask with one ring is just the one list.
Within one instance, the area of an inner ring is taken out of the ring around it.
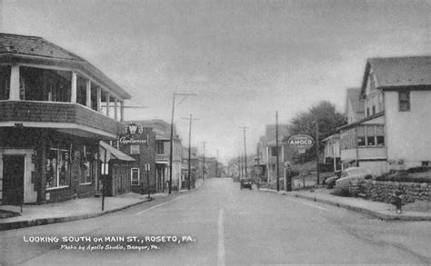
{"label": "curb along the right side of the street below the stone wall", "polygon": [[[284,191],[283,192],[281,192],[281,191],[276,192],[274,190],[268,190],[268,189],[260,189],[260,191],[273,192],[273,193],[277,193],[277,194],[281,194],[281,195],[287,195],[287,192],[284,192]],[[408,221],[408,222],[431,221],[431,215],[412,216],[412,215],[405,215],[405,214],[387,214],[387,213],[382,213],[382,212],[371,211],[371,210],[368,210],[366,208],[352,206],[352,205],[349,205],[346,203],[323,200],[323,199],[319,199],[318,197],[305,196],[305,195],[296,194],[296,193],[289,195],[289,196],[304,199],[304,200],[311,201],[311,202],[321,202],[321,203],[325,203],[328,205],[333,205],[336,207],[340,207],[340,208],[344,208],[344,209],[347,209],[350,211],[354,211],[354,212],[364,213],[366,215],[373,216],[373,217],[376,217],[377,219],[384,220],[384,221]]]}

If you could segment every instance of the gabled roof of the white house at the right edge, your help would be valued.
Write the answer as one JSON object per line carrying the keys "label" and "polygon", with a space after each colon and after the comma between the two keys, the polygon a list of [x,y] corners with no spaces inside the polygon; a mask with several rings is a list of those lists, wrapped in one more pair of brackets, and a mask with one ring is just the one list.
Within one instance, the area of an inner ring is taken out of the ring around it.
{"label": "gabled roof of the white house at the right edge", "polygon": [[368,59],[361,94],[365,93],[371,69],[376,76],[376,85],[382,89],[431,85],[430,55]]}

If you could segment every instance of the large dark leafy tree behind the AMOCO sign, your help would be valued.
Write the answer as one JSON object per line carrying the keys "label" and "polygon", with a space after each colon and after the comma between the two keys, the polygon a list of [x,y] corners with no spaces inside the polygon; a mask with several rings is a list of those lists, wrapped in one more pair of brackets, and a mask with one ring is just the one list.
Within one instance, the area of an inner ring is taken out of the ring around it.
{"label": "large dark leafy tree behind the AMOCO sign", "polygon": [[[336,133],[336,128],[346,124],[346,116],[336,111],[336,106],[328,101],[322,101],[313,105],[308,111],[298,113],[289,123],[290,136],[306,134],[316,139],[316,121],[319,124],[319,151],[325,149],[322,140]],[[289,136],[289,137],[290,137]],[[316,158],[316,143],[305,154],[306,161]]]}

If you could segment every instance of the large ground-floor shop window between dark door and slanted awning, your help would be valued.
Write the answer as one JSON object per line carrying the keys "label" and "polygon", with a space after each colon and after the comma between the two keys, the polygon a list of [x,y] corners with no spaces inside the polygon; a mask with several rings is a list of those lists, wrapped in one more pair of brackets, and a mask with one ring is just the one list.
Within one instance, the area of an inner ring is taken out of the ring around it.
{"label": "large ground-floor shop window between dark door and slanted awning", "polygon": [[46,187],[58,188],[69,185],[70,153],[65,147],[52,147],[46,153]]}

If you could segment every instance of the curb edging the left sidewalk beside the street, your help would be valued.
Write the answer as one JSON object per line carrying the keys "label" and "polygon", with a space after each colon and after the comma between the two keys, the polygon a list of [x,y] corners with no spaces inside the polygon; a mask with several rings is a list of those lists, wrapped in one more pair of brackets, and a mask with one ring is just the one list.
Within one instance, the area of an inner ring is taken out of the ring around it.
{"label": "curb edging the left sidewalk beside the street", "polygon": [[56,217],[56,218],[41,218],[41,219],[35,219],[35,220],[26,220],[26,221],[18,221],[18,222],[0,222],[0,232],[1,231],[7,231],[7,230],[13,230],[13,229],[19,229],[19,228],[25,228],[25,227],[31,227],[31,226],[37,226],[37,225],[45,225],[45,224],[51,224],[51,223],[59,223],[59,222],[72,222],[77,220],[84,220],[84,219],[90,219],[95,218],[98,216],[102,216],[108,213],[112,212],[118,212],[123,211],[127,208],[134,207],[136,205],[142,204],[144,202],[149,202],[147,199],[141,202],[135,202],[130,205],[126,205],[117,209],[104,211],[104,212],[95,212],[95,213],[86,213],[81,215],[75,215],[75,216],[65,216],[65,217]]}

